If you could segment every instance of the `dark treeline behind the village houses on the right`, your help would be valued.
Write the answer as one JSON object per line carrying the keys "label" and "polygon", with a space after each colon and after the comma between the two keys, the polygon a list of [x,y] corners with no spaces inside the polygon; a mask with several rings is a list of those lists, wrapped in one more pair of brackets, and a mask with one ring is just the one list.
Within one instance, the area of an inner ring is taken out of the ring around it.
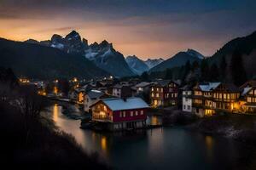
{"label": "dark treeline behind the village houses on the right", "polygon": [[235,50],[231,54],[230,65],[222,56],[218,62],[212,62],[210,59],[202,59],[201,62],[189,61],[186,65],[167,69],[166,71],[143,73],[142,79],[154,80],[157,78],[179,79],[183,84],[195,84],[195,82],[232,82],[236,86],[241,86],[248,79],[247,72],[243,64],[243,58],[240,50]]}

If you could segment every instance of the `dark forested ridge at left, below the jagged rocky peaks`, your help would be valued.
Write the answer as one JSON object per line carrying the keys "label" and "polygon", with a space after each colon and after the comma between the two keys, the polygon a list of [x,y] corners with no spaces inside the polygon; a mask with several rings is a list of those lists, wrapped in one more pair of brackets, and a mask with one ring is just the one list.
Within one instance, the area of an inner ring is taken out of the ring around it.
{"label": "dark forested ridge at left, below the jagged rocky peaks", "polygon": [[[32,43],[31,43],[32,42]],[[0,38],[0,66],[11,68],[18,77],[38,79],[96,78],[109,76],[79,54],[67,54],[41,42],[14,42]]]}

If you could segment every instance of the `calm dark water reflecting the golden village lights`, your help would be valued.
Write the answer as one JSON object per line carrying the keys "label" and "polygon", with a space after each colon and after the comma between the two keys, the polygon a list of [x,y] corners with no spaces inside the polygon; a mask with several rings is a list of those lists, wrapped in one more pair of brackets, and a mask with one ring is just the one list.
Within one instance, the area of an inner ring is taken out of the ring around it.
{"label": "calm dark water reflecting the golden village lights", "polygon": [[[117,169],[227,169],[237,168],[247,155],[244,146],[220,137],[192,133],[183,127],[164,127],[136,134],[96,133],[80,129],[80,121],[61,113],[61,106],[48,111],[56,125],[88,152],[98,152]],[[160,117],[148,123],[161,123]],[[239,169],[239,168],[238,168]]]}

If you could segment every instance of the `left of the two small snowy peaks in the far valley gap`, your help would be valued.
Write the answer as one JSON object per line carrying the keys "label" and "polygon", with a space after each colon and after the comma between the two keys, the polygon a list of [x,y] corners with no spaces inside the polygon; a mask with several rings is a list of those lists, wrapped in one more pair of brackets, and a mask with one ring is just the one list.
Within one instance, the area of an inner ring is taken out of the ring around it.
{"label": "left of the two small snowy peaks in the far valley gap", "polygon": [[135,55],[127,56],[125,61],[137,75],[141,75],[144,71],[149,70],[148,65],[146,65],[142,59],[138,59]]}

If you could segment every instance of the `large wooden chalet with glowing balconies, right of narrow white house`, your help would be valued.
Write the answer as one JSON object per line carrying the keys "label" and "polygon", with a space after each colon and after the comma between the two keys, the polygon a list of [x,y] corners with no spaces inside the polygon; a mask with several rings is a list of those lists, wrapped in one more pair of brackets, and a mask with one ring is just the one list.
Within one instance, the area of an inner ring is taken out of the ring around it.
{"label": "large wooden chalet with glowing balconies, right of narrow white house", "polygon": [[192,111],[198,116],[211,116],[217,111],[233,112],[240,98],[235,85],[222,82],[206,82],[193,88]]}

